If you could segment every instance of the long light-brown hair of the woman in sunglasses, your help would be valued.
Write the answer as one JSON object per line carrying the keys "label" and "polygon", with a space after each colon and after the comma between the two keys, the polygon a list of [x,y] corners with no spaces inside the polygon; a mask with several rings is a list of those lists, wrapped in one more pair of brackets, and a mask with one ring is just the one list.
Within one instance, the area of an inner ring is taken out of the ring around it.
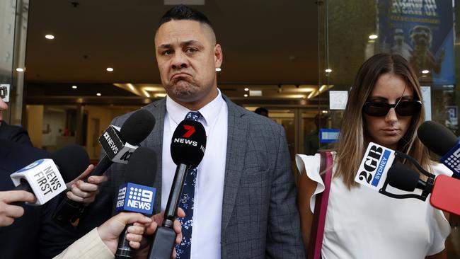
{"label": "long light-brown hair of the woman in sunglasses", "polygon": [[[412,87],[415,100],[422,100],[420,84],[407,60],[398,54],[376,54],[367,59],[358,71],[355,83],[348,96],[347,106],[340,125],[340,136],[337,145],[335,163],[337,170],[334,177],[342,177],[343,183],[351,189],[357,186],[355,175],[364,156],[365,139],[367,137],[362,107],[372,93],[376,81],[383,74],[395,74]],[[430,169],[428,150],[416,136],[416,129],[425,121],[425,110],[413,115],[410,126],[398,143],[398,150],[412,156],[423,168]],[[407,163],[407,162],[406,162]]]}

